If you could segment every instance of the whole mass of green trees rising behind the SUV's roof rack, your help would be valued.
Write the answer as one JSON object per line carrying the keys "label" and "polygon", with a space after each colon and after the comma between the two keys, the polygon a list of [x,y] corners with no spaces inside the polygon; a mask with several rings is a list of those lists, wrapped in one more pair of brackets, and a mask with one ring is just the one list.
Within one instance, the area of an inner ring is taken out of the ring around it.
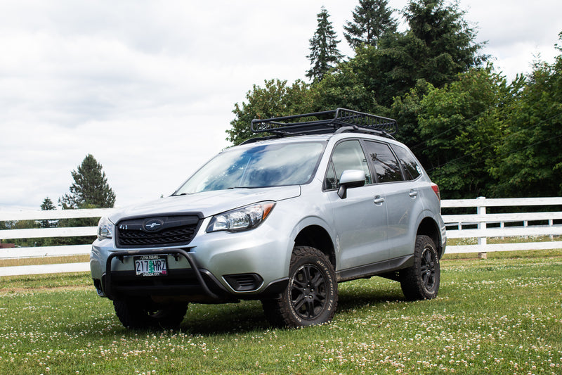
{"label": "whole mass of green trees rising behind the SUV's roof rack", "polygon": [[[507,82],[480,53],[484,44],[457,1],[410,0],[402,11],[407,30],[396,32],[391,22],[375,34],[377,17],[393,20],[386,6],[359,1],[353,23],[344,25],[355,56],[311,69],[311,84],[254,85],[247,101],[235,103],[228,140],[251,137],[253,118],[344,107],[396,118],[397,139],[412,148],[443,198],[561,195],[562,54]],[[322,8],[317,34],[329,25],[336,41],[327,17]],[[319,40],[311,39],[311,51]],[[314,63],[318,56],[307,57]]]}

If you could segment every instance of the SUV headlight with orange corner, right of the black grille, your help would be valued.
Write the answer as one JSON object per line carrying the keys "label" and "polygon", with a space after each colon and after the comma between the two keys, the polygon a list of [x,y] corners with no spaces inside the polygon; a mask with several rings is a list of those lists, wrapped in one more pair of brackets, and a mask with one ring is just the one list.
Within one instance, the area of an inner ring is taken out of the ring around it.
{"label": "SUV headlight with orange corner, right of the black grille", "polygon": [[207,232],[254,229],[266,220],[274,206],[275,202],[261,202],[215,215],[207,227]]}

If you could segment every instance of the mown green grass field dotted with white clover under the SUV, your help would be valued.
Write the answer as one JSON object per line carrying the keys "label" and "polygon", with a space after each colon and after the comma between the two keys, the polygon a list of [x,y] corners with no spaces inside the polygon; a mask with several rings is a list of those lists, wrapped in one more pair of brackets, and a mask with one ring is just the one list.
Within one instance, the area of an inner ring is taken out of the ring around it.
{"label": "mown green grass field dotted with white clover under the SUV", "polygon": [[[457,259],[454,259],[457,258]],[[340,284],[334,321],[272,329],[259,302],[126,331],[89,275],[0,278],[0,374],[562,374],[562,251],[445,258],[439,297]]]}

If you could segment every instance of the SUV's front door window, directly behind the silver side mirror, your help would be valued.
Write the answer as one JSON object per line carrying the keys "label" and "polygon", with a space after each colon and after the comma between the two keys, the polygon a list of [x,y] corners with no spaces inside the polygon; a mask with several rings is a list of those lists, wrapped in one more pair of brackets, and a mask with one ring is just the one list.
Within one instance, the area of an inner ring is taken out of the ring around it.
{"label": "SUV's front door window, directly behind the silver side mirror", "polygon": [[[365,183],[372,184],[371,172],[359,141],[344,141],[338,144],[332,154],[332,164],[334,165],[334,173],[338,183],[339,177],[341,177],[341,173],[344,170],[362,170],[365,172]],[[329,173],[328,171],[327,178]],[[328,184],[327,189],[329,189]]]}

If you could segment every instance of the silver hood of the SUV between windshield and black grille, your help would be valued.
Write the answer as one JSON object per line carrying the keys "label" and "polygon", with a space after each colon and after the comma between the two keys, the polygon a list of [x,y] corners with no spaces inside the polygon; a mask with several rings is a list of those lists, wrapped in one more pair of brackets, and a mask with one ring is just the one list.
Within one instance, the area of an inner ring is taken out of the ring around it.
{"label": "silver hood of the SUV between windshield and black grille", "polygon": [[277,186],[259,189],[228,189],[204,191],[185,196],[169,196],[157,201],[131,205],[112,213],[109,219],[117,222],[124,217],[154,216],[183,212],[201,212],[209,217],[234,208],[263,201],[283,201],[301,195],[301,186]]}

